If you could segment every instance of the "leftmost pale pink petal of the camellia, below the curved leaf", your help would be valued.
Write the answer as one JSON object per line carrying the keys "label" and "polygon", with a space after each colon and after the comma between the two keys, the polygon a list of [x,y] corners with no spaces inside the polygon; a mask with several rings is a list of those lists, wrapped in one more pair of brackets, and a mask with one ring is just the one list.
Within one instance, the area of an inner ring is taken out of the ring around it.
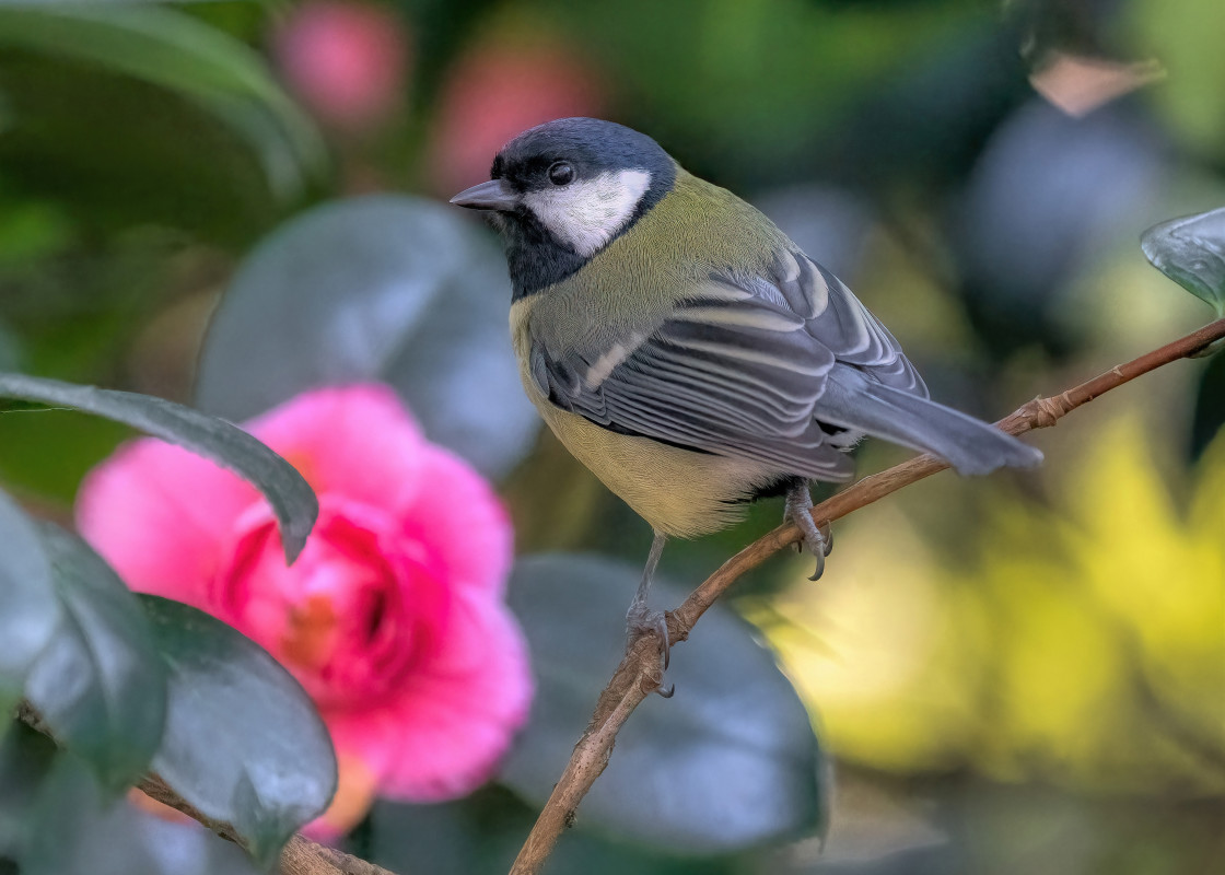
{"label": "leftmost pale pink petal of the camellia, below the curved leaf", "polygon": [[86,475],[77,531],[132,589],[203,604],[234,520],[261,501],[236,474],[152,438]]}

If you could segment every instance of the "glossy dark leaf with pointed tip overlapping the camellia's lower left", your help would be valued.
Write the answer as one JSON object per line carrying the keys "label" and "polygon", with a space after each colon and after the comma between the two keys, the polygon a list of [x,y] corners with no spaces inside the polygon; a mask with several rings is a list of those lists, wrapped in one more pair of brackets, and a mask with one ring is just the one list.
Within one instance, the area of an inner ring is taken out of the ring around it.
{"label": "glossy dark leaf with pointed tip overlapping the camellia's lower left", "polygon": [[265,865],[336,793],[336,755],[310,697],[266,651],[185,604],[141,596],[169,668],[153,768]]}

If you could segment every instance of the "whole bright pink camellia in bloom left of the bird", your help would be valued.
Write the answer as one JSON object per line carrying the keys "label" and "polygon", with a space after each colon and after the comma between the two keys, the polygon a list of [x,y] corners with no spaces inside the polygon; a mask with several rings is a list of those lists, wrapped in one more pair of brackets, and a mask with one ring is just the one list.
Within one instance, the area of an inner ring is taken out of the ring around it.
{"label": "whole bright pink camellia in bloom left of the bird", "polygon": [[251,485],[147,438],[86,478],[82,536],[132,589],[229,623],[315,699],[341,762],[316,836],[348,830],[376,793],[431,801],[474,789],[532,699],[503,602],[502,506],[426,442],[385,386],[306,392],[247,429],[318,495],[318,523],[293,566]]}

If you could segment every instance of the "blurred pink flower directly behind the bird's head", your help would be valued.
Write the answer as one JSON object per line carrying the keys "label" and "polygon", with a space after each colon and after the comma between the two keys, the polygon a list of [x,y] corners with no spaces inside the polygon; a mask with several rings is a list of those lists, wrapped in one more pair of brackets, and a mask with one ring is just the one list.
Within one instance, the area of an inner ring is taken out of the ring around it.
{"label": "blurred pink flower directly behind the bird's head", "polygon": [[523,130],[600,115],[595,71],[552,43],[479,43],[456,64],[439,100],[431,164],[442,194],[489,179],[494,156]]}

